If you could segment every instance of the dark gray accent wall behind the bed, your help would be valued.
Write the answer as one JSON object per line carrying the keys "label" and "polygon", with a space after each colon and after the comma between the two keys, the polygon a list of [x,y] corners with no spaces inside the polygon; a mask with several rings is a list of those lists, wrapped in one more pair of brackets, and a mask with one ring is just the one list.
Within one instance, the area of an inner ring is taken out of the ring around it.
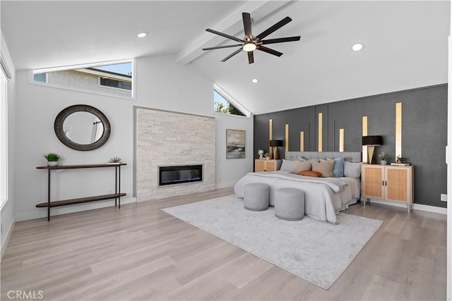
{"label": "dark gray accent wall behind the bed", "polygon": [[[415,203],[446,207],[440,194],[447,193],[447,84],[391,92],[340,102],[305,106],[254,116],[254,156],[268,151],[269,120],[273,139],[285,140],[289,124],[289,150],[299,151],[299,132],[304,131],[304,151],[318,150],[318,113],[323,113],[323,151],[339,151],[339,129],[345,132],[344,150],[362,150],[362,116],[367,116],[368,135],[383,136],[385,152],[396,161],[396,103],[402,103],[402,157],[415,166]],[[278,156],[284,158],[283,147]],[[377,159],[377,163],[379,160]]]}

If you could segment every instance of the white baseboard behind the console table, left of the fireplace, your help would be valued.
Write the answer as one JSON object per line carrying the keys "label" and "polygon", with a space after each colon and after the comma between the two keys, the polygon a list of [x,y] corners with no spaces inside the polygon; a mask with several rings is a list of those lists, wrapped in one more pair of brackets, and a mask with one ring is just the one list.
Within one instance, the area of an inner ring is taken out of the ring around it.
{"label": "white baseboard behind the console table, left of the fireplace", "polygon": [[[135,202],[136,202],[135,197],[121,197],[121,205],[131,204]],[[114,199],[102,202],[91,202],[83,204],[73,204],[69,206],[54,207],[50,209],[50,216],[52,218],[52,216],[57,216],[60,214],[69,214],[78,211],[86,211],[112,206],[114,206]],[[37,208],[33,211],[18,213],[16,214],[16,221],[28,221],[29,219],[40,219],[42,217],[47,217],[47,207],[39,209]]]}

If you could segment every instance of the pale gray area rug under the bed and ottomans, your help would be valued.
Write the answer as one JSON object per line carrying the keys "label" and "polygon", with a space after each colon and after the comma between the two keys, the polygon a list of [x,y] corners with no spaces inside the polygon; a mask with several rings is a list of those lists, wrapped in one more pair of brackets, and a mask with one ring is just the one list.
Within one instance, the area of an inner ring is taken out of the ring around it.
{"label": "pale gray area rug under the bed and ottomans", "polygon": [[273,207],[249,211],[234,195],[162,210],[326,290],[383,223],[345,213],[337,225],[283,221]]}

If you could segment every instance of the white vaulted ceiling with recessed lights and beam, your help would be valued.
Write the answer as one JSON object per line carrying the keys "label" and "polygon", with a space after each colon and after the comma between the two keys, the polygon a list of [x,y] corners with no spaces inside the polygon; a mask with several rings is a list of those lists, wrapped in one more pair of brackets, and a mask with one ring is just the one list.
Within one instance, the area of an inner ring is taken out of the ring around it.
{"label": "white vaulted ceiling with recessed lights and beam", "polygon": [[[251,65],[245,53],[220,62],[234,49],[201,50],[235,44],[206,28],[242,38],[243,11],[254,35],[290,16],[268,38],[302,39],[268,45],[279,58],[254,51]],[[253,113],[445,83],[449,28],[450,1],[1,1],[18,70],[174,54]]]}

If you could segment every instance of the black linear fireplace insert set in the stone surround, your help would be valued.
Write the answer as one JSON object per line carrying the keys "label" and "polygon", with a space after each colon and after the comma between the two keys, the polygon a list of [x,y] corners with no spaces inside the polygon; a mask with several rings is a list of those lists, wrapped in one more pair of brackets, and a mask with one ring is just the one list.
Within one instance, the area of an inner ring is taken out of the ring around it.
{"label": "black linear fireplace insert set in the stone surround", "polygon": [[203,180],[203,165],[159,166],[158,185],[201,182]]}

